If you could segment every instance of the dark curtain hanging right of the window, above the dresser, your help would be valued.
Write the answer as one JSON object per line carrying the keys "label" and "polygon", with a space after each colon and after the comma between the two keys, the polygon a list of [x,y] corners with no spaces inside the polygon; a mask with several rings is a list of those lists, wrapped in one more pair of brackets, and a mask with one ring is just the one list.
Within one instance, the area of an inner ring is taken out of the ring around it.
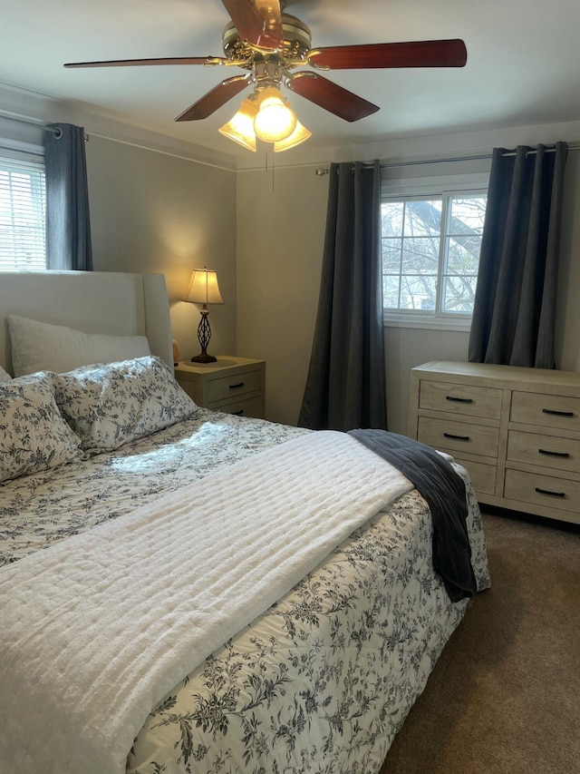
{"label": "dark curtain hanging right of the window, above the dresser", "polygon": [[555,367],[557,262],[567,145],[496,148],[469,360]]}

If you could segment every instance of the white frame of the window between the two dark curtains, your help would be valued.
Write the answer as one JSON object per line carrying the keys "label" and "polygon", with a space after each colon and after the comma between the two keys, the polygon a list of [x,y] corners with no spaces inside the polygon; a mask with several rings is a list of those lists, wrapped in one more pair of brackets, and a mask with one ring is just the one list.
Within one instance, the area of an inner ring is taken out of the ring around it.
{"label": "white frame of the window between the two dark curtains", "polygon": [[[429,199],[449,196],[481,196],[488,193],[488,172],[472,174],[440,175],[431,178],[408,178],[383,181],[382,201],[405,199]],[[448,200],[449,201],[449,200]],[[448,208],[441,212],[441,232],[446,230]],[[440,256],[437,282],[437,309],[440,309],[441,278],[443,272],[443,242],[440,239]],[[391,328],[429,328],[431,330],[469,331],[471,315],[459,312],[440,312],[430,309],[383,309],[383,323]]]}

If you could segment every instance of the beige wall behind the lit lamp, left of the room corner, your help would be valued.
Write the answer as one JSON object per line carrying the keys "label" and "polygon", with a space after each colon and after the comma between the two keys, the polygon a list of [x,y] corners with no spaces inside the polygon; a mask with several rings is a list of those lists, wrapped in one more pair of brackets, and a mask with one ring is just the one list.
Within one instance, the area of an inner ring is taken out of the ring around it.
{"label": "beige wall behind the lit lamp, left of the room corner", "polygon": [[181,358],[198,354],[191,269],[218,271],[209,351],[235,353],[236,173],[92,136],[87,143],[94,269],[165,275]]}

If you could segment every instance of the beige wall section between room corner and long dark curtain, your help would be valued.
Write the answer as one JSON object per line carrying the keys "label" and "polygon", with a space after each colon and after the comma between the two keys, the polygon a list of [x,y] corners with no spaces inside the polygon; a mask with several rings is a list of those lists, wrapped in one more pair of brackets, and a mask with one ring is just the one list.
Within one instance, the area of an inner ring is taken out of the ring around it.
{"label": "beige wall section between room corner and long dark curtain", "polygon": [[290,425],[312,348],[327,193],[313,167],[237,175],[237,354],[266,359],[266,418]]}

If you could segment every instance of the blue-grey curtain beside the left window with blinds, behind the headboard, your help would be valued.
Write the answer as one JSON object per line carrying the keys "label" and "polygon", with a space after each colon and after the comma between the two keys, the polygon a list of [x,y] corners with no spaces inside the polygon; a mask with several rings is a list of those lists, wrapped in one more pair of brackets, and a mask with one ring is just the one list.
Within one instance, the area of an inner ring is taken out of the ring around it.
{"label": "blue-grey curtain beside the left window with blinds, behind the headboard", "polygon": [[91,218],[82,126],[45,132],[46,268],[92,270]]}

